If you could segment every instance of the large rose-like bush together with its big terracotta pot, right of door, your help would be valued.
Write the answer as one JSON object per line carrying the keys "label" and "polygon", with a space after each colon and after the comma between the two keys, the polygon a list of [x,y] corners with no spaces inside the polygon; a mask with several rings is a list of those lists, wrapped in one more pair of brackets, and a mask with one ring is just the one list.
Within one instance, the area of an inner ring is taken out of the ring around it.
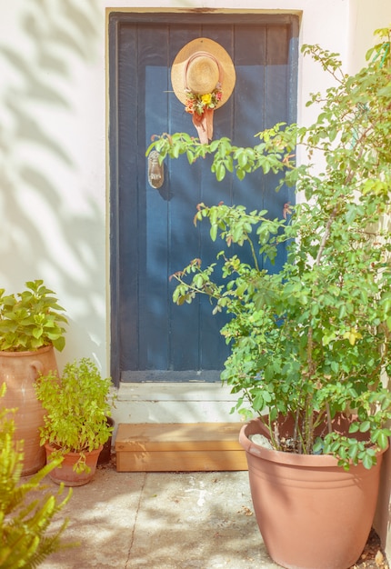
{"label": "large rose-like bush together with its big terracotta pot, right of door", "polygon": [[[219,180],[226,171],[239,179],[273,171],[278,187],[296,185],[304,196],[279,219],[242,205],[198,205],[195,224],[207,220],[224,250],[215,264],[195,259],[173,275],[175,303],[206,294],[214,313],[228,314],[222,379],[236,409],[257,416],[240,434],[257,522],[276,563],[296,569],[356,562],[390,435],[390,30],[377,33],[386,41],[354,76],[335,54],[303,47],[336,79],[311,98],[320,105],[314,125],[276,125],[248,148],[226,138],[200,145],[185,134],[152,145],[160,160],[212,154]],[[307,163],[296,165],[296,146]],[[282,270],[261,268],[281,245]]]}

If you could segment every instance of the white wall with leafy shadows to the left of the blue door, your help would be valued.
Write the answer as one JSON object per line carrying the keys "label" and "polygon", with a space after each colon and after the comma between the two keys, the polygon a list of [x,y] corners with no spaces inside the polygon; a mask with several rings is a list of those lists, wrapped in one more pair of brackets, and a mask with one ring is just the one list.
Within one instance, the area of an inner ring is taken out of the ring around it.
{"label": "white wall with leafy shadows to the left of the blue door", "polygon": [[73,358],[105,337],[105,197],[85,164],[104,15],[95,0],[17,0],[2,13],[15,38],[0,41],[0,282],[10,293],[35,278],[55,289],[77,322]]}

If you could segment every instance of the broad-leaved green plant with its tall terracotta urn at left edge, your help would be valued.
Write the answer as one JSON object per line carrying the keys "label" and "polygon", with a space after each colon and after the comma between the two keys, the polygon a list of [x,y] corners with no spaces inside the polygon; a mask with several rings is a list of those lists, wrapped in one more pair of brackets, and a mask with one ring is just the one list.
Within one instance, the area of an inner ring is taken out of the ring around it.
{"label": "broad-leaved green plant with its tall terracotta urn at left edge", "polygon": [[22,475],[45,464],[38,431],[44,411],[33,384],[38,374],[57,369],[55,349],[65,346],[66,324],[64,308],[44,281],[29,281],[25,287],[15,294],[0,289],[0,384],[7,385],[2,403],[17,409],[15,440],[24,441]]}

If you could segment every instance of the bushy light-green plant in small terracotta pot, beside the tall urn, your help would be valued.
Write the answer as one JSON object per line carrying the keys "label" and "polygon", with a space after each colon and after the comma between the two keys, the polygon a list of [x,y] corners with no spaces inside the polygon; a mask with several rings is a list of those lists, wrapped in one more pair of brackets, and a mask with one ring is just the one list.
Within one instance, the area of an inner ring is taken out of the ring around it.
{"label": "bushy light-green plant in small terracotta pot, beside the tall urn", "polygon": [[96,364],[82,358],[66,364],[61,377],[53,372],[39,375],[35,391],[46,413],[40,432],[47,459],[64,459],[50,477],[57,484],[87,484],[95,474],[103,444],[113,431],[107,422],[111,414],[111,378],[103,379]]}

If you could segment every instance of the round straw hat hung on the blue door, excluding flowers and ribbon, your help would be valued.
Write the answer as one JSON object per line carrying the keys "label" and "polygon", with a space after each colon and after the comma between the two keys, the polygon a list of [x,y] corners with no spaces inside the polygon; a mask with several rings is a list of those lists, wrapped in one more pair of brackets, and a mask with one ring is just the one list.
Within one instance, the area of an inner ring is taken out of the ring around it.
{"label": "round straw hat hung on the blue door, excluding flowers and ribbon", "polygon": [[185,105],[188,91],[195,95],[212,93],[219,84],[224,105],[235,86],[236,73],[231,57],[222,45],[207,37],[186,44],[175,56],[171,83],[177,98]]}

